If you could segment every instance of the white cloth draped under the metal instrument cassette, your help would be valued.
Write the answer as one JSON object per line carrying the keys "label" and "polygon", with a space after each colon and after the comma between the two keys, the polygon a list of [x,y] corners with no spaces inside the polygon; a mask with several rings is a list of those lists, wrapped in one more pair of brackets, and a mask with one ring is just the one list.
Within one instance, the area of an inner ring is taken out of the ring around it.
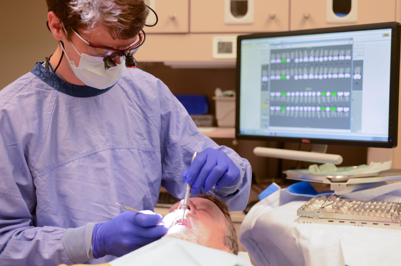
{"label": "white cloth draped under the metal instrument cassette", "polygon": [[[395,192],[401,193],[391,193]],[[401,230],[299,224],[297,209],[304,203],[282,189],[251,208],[241,225],[240,240],[257,265],[400,263]]]}

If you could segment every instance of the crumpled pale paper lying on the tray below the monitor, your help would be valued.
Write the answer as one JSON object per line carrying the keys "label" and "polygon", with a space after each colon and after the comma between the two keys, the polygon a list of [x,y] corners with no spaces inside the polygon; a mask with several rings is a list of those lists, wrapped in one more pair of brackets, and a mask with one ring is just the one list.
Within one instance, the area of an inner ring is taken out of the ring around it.
{"label": "crumpled pale paper lying on the tray below the monitor", "polygon": [[393,160],[387,162],[371,162],[369,166],[361,164],[356,168],[338,167],[334,164],[322,164],[318,166],[313,164],[309,166],[309,172],[312,174],[336,175],[336,176],[353,176],[357,174],[377,174],[379,172],[391,169]]}

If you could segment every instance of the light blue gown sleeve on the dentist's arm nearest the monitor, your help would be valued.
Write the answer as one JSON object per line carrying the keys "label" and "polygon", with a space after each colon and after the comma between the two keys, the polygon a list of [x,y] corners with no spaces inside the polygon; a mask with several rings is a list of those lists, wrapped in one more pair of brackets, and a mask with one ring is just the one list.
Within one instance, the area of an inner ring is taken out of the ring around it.
{"label": "light blue gown sleeve on the dentist's arm nearest the monitor", "polygon": [[230,210],[245,209],[251,186],[251,165],[241,158],[233,149],[219,146],[203,135],[184,106],[159,80],[160,97],[160,143],[162,156],[162,186],[177,198],[184,198],[186,183],[182,173],[191,162],[192,154],[212,147],[224,151],[238,166],[241,180],[232,187],[212,189],[212,192],[223,197]]}

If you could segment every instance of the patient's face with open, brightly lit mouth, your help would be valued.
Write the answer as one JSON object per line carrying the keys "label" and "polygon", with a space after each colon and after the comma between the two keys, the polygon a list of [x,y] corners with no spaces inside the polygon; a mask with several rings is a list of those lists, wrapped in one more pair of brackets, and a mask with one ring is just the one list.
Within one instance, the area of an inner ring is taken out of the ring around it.
{"label": "patient's face with open, brightly lit mouth", "polygon": [[205,198],[190,198],[185,213],[182,221],[183,210],[180,202],[171,207],[163,219],[164,223],[172,224],[166,236],[231,252],[223,244],[227,222],[216,204]]}

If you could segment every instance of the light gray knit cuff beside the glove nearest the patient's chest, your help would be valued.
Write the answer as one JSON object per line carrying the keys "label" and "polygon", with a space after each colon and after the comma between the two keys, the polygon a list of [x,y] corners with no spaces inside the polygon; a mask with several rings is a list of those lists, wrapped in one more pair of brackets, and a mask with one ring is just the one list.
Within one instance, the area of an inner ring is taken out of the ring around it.
{"label": "light gray knit cuff beside the glove nearest the patient's chest", "polygon": [[72,262],[82,263],[93,258],[92,233],[94,226],[94,223],[87,223],[85,226],[65,230],[63,246]]}

